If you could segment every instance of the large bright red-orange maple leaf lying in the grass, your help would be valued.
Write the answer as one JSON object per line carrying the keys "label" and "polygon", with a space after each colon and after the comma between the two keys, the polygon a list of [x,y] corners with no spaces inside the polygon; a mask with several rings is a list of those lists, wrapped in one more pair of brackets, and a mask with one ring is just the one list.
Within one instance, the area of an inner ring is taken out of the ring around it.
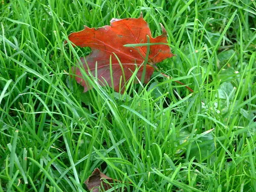
{"label": "large bright red-orange maple leaf lying in the grass", "polygon": [[[147,35],[150,37],[150,43],[167,43],[167,35],[166,30],[162,26],[163,34],[156,38],[152,38],[148,24],[142,16],[139,18],[112,19],[110,22],[110,26],[99,28],[89,28],[84,26],[84,30],[71,33],[68,38],[77,46],[90,47],[92,49],[90,55],[85,58],[88,67],[84,58],[80,59],[85,71],[88,72],[88,69],[90,69],[93,76],[95,76],[95,64],[97,61],[97,76],[102,86],[105,86],[106,82],[111,86],[111,71],[109,64],[111,56],[113,87],[116,91],[119,91],[122,69],[113,53],[115,53],[121,61],[125,74],[125,81],[128,81],[136,67],[140,66],[145,60],[147,46],[123,47],[123,45],[147,43]],[[147,83],[149,81],[154,71],[154,67],[151,66],[152,64],[172,56],[173,54],[171,53],[169,46],[163,44],[151,45],[144,82]],[[140,67],[137,72],[137,77],[139,79],[142,78],[142,73],[143,67]],[[76,69],[76,75],[76,81],[84,86],[84,92],[92,88],[88,87],[88,84],[84,79],[81,79],[81,71],[78,68]],[[121,86],[123,85],[124,77],[122,76]]]}

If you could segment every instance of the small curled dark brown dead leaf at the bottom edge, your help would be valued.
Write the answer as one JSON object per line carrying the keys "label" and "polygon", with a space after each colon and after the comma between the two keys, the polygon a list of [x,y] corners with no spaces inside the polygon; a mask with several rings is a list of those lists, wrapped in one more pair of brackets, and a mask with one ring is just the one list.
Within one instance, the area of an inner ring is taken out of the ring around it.
{"label": "small curled dark brown dead leaf at the bottom edge", "polygon": [[[92,192],[99,192],[99,189],[102,190],[102,186],[105,190],[111,189],[108,183],[104,182],[104,179],[107,180],[109,183],[113,183],[113,179],[108,177],[107,175],[103,174],[98,168],[94,169],[92,175],[88,177],[88,179],[84,182],[89,190]],[[118,181],[118,180],[116,180]]]}

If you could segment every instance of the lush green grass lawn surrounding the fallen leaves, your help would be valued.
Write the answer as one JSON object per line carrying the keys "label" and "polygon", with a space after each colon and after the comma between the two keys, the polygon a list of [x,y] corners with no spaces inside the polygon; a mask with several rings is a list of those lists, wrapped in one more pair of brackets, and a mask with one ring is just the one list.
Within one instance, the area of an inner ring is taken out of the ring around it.
{"label": "lush green grass lawn surrounding the fallen leaves", "polygon": [[[152,2],[2,1],[0,191],[86,191],[97,167],[128,191],[256,191],[256,2]],[[90,49],[67,35],[141,11],[173,79],[82,93],[68,73]]]}

